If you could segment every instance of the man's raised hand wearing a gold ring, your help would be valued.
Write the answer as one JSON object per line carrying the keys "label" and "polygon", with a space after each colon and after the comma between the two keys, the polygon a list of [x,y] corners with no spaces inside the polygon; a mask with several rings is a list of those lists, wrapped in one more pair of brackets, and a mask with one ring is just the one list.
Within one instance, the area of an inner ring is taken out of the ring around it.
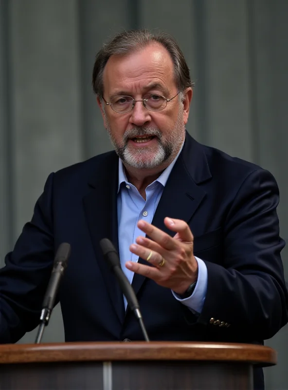
{"label": "man's raised hand wearing a gold ring", "polygon": [[164,223],[174,237],[150,223],[137,224],[150,238],[139,236],[130,251],[153,265],[126,262],[126,268],[154,280],[178,294],[183,294],[197,280],[198,263],[193,254],[193,234],[186,222],[166,217]]}

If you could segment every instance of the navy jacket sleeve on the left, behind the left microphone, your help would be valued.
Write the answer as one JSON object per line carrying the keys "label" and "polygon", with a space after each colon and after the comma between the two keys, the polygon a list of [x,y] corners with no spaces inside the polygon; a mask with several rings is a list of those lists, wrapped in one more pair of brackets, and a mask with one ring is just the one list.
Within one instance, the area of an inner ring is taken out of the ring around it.
{"label": "navy jacket sleeve on the left, behind the left microphone", "polygon": [[53,176],[36,202],[31,222],[0,269],[0,343],[14,343],[39,323],[54,259]]}

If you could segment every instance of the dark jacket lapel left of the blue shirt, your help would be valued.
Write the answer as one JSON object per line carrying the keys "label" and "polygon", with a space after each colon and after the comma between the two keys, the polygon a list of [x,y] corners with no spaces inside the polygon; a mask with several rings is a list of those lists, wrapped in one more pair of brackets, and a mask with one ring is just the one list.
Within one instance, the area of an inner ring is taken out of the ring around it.
{"label": "dark jacket lapel left of the blue shirt", "polygon": [[122,324],[125,314],[123,294],[115,276],[104,261],[99,245],[102,238],[109,238],[118,251],[118,157],[116,154],[112,153],[103,161],[103,164],[99,163],[89,185],[90,191],[84,197],[83,202],[92,245],[107,287],[110,303]]}

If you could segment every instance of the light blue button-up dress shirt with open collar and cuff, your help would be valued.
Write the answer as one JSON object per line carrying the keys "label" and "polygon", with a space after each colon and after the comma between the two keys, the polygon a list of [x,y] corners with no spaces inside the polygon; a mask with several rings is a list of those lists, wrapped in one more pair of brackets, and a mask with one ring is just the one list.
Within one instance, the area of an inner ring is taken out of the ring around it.
{"label": "light blue button-up dress shirt with open collar and cuff", "polygon": [[[146,187],[146,200],[140,195],[137,188],[128,182],[123,163],[119,159],[119,185],[117,195],[119,255],[121,268],[130,283],[132,283],[134,273],[125,267],[125,263],[126,261],[137,262],[139,256],[132,254],[129,251],[129,246],[132,243],[136,243],[136,238],[139,235],[145,235],[137,227],[137,222],[140,219],[144,219],[149,223],[152,222],[163,189],[180,152],[162,174]],[[177,189],[175,190],[177,191]],[[168,214],[167,216],[169,216]],[[175,292],[171,292],[175,299],[187,306],[192,312],[200,313],[207,291],[207,267],[203,260],[198,257],[196,257],[196,260],[198,262],[198,279],[192,295],[188,298],[180,299]],[[125,297],[124,304],[126,309],[127,301]]]}

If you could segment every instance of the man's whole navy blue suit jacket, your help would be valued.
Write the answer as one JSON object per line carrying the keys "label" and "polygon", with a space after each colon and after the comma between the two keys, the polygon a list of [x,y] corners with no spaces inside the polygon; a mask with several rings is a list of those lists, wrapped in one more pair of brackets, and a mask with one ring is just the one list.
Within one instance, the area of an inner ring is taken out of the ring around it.
{"label": "man's whole navy blue suit jacket", "polygon": [[[143,340],[99,246],[103,237],[118,246],[117,186],[115,152],[48,177],[0,270],[0,342],[16,342],[37,326],[62,242],[72,247],[59,293],[66,341]],[[189,224],[194,253],[208,269],[207,294],[196,316],[169,289],[135,274],[132,286],[151,340],[262,343],[287,323],[278,198],[269,172],[186,134],[152,223],[171,235],[165,216]]]}

